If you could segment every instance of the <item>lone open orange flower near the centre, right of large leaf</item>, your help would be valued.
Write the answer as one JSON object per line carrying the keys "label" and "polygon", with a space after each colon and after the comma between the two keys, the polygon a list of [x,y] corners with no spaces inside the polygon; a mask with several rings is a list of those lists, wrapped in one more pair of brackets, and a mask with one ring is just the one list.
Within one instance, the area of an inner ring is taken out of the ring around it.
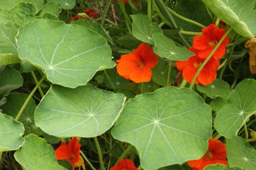
{"label": "lone open orange flower near the centre, right of large leaf", "polygon": [[158,56],[148,44],[140,44],[132,53],[121,56],[117,60],[117,73],[134,83],[151,80],[151,69],[158,63]]}

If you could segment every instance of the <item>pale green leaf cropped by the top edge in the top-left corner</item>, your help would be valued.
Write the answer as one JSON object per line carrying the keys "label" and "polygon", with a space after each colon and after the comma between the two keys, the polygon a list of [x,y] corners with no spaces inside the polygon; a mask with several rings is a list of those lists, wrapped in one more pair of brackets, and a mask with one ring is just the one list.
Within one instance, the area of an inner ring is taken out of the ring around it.
{"label": "pale green leaf cropped by the top edge in the top-left corner", "polygon": [[44,0],[0,0],[0,9],[9,11],[21,2],[33,4],[36,7],[36,11],[38,12],[42,9]]}

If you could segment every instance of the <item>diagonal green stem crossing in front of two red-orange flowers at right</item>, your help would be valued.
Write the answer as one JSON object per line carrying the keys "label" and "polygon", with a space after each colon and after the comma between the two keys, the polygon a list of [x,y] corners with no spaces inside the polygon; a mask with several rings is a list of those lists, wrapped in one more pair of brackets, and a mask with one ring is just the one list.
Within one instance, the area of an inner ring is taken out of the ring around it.
{"label": "diagonal green stem crossing in front of two red-orange flowers at right", "polygon": [[212,52],[210,53],[210,55],[205,59],[205,61],[203,62],[203,64],[201,65],[201,67],[199,67],[199,69],[197,70],[197,73],[195,73],[193,80],[191,82],[191,84],[189,85],[189,88],[192,89],[195,80],[197,79],[197,76],[199,75],[199,73],[201,72],[201,70],[203,69],[203,67],[205,67],[205,65],[207,64],[207,62],[210,60],[210,58],[212,57],[212,55],[214,54],[214,52],[216,52],[216,50],[219,48],[220,44],[222,44],[223,40],[226,38],[226,36],[228,36],[228,33],[232,30],[232,28],[229,28],[228,31],[224,34],[224,36],[222,36],[222,38],[220,39],[220,41],[218,42],[218,44],[215,46],[214,50],[212,50]]}

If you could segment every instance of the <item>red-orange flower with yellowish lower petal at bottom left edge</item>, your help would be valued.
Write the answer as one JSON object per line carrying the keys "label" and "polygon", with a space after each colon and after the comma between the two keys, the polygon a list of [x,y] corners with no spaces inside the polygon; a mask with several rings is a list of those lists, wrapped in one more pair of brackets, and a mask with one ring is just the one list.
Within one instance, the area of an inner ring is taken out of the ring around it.
{"label": "red-orange flower with yellowish lower petal at bottom left edge", "polygon": [[56,159],[67,159],[67,161],[69,161],[69,163],[71,163],[73,166],[73,169],[75,169],[75,167],[81,166],[83,169],[86,169],[84,160],[79,153],[80,147],[81,144],[79,144],[76,137],[73,137],[71,140],[69,140],[68,144],[62,142],[61,145],[55,150]]}

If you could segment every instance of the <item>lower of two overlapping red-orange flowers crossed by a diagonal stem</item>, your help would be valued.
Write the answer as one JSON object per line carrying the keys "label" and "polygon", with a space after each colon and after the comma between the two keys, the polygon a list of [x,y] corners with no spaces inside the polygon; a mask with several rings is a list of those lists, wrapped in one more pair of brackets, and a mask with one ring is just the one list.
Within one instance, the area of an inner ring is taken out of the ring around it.
{"label": "lower of two overlapping red-orange flowers crossed by a diagonal stem", "polygon": [[[189,57],[188,60],[177,61],[177,69],[182,73],[183,79],[191,83],[195,73],[201,67],[205,58],[200,58],[197,53],[198,50],[195,48],[189,48],[192,52],[195,53],[195,56]],[[214,58],[210,58],[210,60],[206,63],[203,69],[200,71],[197,79],[195,79],[195,84],[201,83],[202,85],[208,85],[212,83],[217,77],[216,71],[220,66],[219,60],[214,60]]]}

